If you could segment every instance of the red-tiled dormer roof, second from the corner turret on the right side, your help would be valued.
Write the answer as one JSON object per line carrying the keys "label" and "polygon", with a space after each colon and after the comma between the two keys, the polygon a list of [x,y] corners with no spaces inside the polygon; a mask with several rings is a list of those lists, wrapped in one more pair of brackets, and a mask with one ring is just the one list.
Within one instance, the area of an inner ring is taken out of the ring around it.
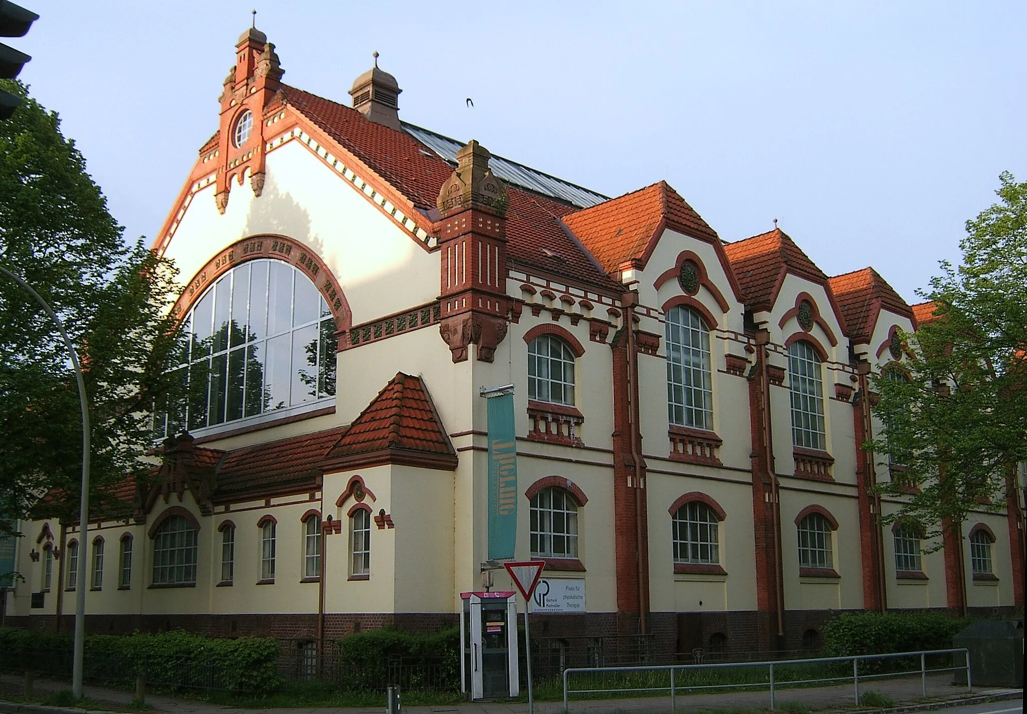
{"label": "red-tiled dormer roof, second from the corner turret on the right side", "polygon": [[824,271],[779,228],[727,243],[724,252],[748,298],[750,309],[769,310],[773,307],[786,273],[828,287],[828,276]]}

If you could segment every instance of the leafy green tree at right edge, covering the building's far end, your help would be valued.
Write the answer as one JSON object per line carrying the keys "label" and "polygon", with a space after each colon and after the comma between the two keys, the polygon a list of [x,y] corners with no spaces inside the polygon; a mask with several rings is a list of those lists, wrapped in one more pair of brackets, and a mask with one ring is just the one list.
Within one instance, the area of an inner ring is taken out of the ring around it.
{"label": "leafy green tree at right edge, covering the building's far end", "polygon": [[906,354],[874,379],[884,428],[868,445],[901,464],[878,490],[928,535],[1016,493],[1027,460],[1027,183],[1000,177],[999,201],[966,222],[962,262],[921,295],[934,315],[902,335]]}

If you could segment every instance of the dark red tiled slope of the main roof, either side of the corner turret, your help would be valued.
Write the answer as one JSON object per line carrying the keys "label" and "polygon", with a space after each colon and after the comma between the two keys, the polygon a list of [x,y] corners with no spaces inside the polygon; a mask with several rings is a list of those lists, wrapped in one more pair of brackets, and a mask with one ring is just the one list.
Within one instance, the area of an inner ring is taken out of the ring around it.
{"label": "dark red tiled slope of the main roof, either side of the corner turret", "polygon": [[[435,208],[453,166],[406,131],[370,121],[360,112],[296,87],[282,86],[286,102],[319,126],[406,196],[425,215]],[[605,275],[559,219],[575,211],[516,186],[507,186],[506,250],[511,260],[549,272],[620,290]],[[554,255],[546,254],[547,249]]]}

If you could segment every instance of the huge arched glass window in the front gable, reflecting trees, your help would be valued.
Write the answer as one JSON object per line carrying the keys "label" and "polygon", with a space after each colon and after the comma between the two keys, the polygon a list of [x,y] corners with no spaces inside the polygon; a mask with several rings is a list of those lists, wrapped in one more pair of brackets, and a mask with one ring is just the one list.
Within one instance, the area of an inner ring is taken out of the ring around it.
{"label": "huge arched glass window in the front gable, reflecting trees", "polygon": [[186,321],[191,339],[177,372],[189,399],[158,416],[159,434],[335,396],[335,321],[314,284],[292,265],[272,259],[237,265]]}

